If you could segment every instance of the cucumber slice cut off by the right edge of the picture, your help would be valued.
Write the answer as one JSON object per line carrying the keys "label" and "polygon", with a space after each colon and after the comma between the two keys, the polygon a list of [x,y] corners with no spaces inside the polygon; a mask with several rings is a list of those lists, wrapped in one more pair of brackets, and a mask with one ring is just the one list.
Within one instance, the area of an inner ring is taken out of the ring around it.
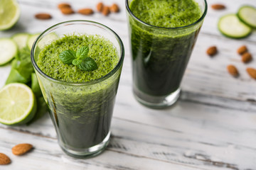
{"label": "cucumber slice cut off by the right edge of the picture", "polygon": [[253,6],[242,6],[238,10],[238,18],[248,26],[256,28],[256,8]]}

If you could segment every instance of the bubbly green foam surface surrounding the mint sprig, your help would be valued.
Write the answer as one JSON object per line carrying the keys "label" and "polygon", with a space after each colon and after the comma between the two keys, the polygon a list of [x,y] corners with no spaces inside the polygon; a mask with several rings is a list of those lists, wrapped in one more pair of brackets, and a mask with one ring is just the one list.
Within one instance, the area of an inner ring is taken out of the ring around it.
{"label": "bubbly green foam surface surrounding the mint sprig", "polygon": [[[98,69],[87,72],[73,64],[64,64],[59,59],[61,52],[77,51],[82,46],[89,47],[88,57],[95,60]],[[36,63],[42,72],[53,79],[80,83],[104,77],[114,69],[118,61],[117,49],[110,40],[100,35],[65,35],[44,47]]]}

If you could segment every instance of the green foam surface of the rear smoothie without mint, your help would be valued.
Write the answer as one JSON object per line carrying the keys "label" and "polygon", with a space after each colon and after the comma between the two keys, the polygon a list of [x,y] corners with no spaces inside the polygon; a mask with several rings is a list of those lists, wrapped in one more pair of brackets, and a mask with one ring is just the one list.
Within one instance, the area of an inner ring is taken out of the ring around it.
{"label": "green foam surface of the rear smoothie without mint", "polygon": [[201,9],[193,0],[134,0],[130,9],[139,20],[164,28],[188,26],[201,18]]}

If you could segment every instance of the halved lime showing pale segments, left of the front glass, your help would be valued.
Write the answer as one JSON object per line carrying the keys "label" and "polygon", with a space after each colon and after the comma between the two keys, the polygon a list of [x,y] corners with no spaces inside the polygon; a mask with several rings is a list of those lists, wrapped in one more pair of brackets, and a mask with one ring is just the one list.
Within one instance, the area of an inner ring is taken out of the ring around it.
{"label": "halved lime showing pale segments, left of the front glass", "polygon": [[36,98],[25,84],[8,84],[0,90],[0,123],[22,125],[36,113]]}

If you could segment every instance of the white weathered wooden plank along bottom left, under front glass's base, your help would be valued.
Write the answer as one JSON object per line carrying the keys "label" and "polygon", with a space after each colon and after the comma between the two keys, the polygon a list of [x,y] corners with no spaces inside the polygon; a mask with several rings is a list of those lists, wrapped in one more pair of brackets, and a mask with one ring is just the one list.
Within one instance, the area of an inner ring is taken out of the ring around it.
{"label": "white weathered wooden plank along bottom left, under front glass's base", "polygon": [[[193,166],[164,162],[149,157],[140,157],[136,154],[128,154],[112,149],[91,159],[74,159],[65,155],[57,140],[4,130],[0,128],[0,150],[11,158],[11,164],[1,166],[6,169],[196,169]],[[21,140],[22,139],[22,140]],[[11,147],[20,143],[28,142],[34,149],[26,155],[15,156],[11,154]]]}

